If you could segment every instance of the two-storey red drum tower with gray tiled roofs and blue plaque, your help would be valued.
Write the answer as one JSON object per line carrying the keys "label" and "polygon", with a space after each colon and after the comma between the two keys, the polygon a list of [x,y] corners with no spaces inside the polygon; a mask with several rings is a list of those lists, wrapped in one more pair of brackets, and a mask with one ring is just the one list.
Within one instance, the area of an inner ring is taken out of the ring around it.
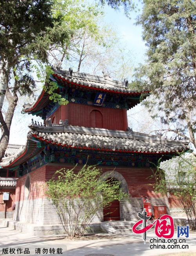
{"label": "two-storey red drum tower with gray tiled roofs and blue plaque", "polygon": [[[131,195],[131,203],[113,202],[116,211],[104,215],[104,209],[94,218],[96,227],[105,220],[135,220],[142,206],[141,195],[151,203],[169,205],[166,197],[153,191],[149,180],[152,163],[162,156],[170,159],[176,152],[189,149],[185,141],[164,140],[154,135],[137,133],[128,127],[127,110],[140,103],[149,91],[127,87],[109,76],[54,69],[51,80],[57,92],[69,101],[58,105],[44,90],[33,104],[25,104],[23,113],[36,118],[29,125],[26,146],[11,159],[4,158],[1,167],[15,170],[15,220],[48,225],[48,230],[59,232],[58,216],[46,198],[44,184],[62,167],[73,168],[97,164],[105,179],[121,181],[122,188]],[[114,170],[115,167],[115,170]],[[47,228],[46,228],[47,230]],[[56,231],[55,231],[56,230]]]}

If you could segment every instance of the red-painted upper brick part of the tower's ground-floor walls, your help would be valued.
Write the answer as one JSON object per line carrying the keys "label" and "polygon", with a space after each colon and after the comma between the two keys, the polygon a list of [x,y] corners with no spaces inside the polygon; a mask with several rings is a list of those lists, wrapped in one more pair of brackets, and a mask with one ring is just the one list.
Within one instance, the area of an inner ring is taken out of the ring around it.
{"label": "red-painted upper brick part of the tower's ground-floor walls", "polygon": [[[52,178],[54,172],[61,168],[72,169],[73,165],[69,164],[55,164],[49,163],[37,170],[30,172],[31,184],[29,199],[43,198],[45,196],[45,182]],[[103,172],[112,171],[114,167],[101,167]],[[80,169],[80,166],[76,167],[76,171]],[[116,167],[116,172],[122,174],[125,178],[129,193],[132,197],[140,197],[142,195],[151,197],[160,197],[160,194],[156,194],[153,191],[153,180],[149,179],[152,171],[150,168],[134,168],[134,167]],[[22,176],[17,180],[16,185],[16,201],[24,200],[24,183],[27,175]]]}

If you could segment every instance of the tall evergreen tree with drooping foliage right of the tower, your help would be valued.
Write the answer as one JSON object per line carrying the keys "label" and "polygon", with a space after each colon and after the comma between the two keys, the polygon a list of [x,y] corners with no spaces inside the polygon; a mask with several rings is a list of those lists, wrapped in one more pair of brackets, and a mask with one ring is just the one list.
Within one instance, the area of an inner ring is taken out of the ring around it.
{"label": "tall evergreen tree with drooping foliage right of the tower", "polygon": [[[196,147],[196,3],[193,0],[144,0],[137,23],[143,27],[147,63],[136,81],[147,85],[162,122]],[[189,135],[187,135],[189,134]]]}

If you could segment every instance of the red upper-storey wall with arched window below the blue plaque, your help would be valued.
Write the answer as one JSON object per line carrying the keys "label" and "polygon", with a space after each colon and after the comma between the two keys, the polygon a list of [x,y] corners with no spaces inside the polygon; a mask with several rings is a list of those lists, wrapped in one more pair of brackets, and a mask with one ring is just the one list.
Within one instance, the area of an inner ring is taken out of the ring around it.
{"label": "red upper-storey wall with arched window below the blue plaque", "polygon": [[69,120],[70,125],[127,130],[127,110],[94,107],[76,103],[60,106],[51,116],[53,123]]}

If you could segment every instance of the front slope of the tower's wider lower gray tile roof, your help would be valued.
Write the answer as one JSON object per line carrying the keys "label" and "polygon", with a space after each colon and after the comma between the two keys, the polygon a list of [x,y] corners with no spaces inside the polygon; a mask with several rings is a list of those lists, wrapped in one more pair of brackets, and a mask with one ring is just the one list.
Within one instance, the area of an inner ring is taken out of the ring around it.
{"label": "front slope of the tower's wider lower gray tile roof", "polygon": [[114,131],[63,124],[50,124],[48,127],[32,124],[29,127],[31,128],[29,136],[68,147],[141,153],[176,152],[189,148],[189,142],[186,141],[164,140],[157,136],[133,131]]}

